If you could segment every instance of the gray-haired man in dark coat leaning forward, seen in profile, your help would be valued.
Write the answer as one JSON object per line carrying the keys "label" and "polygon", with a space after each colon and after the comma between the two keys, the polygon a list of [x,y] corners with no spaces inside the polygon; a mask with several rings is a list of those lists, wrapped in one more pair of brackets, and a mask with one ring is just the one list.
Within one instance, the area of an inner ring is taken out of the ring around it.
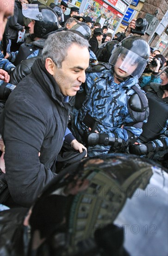
{"label": "gray-haired man in dark coat leaning forward, seen in profile", "polygon": [[[80,58],[79,58],[80,56]],[[6,181],[12,199],[29,207],[55,176],[55,163],[65,141],[82,152],[72,134],[66,135],[70,104],[85,81],[88,41],[62,31],[46,40],[37,59],[6,101],[2,115]],[[29,86],[27,86],[29,85]]]}

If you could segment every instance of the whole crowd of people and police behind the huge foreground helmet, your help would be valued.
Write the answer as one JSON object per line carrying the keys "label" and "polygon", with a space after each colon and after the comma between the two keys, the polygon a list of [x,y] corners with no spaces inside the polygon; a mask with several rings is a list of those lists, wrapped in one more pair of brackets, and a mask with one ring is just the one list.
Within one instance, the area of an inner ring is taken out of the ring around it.
{"label": "whole crowd of people and police behind the huge foreground helmet", "polygon": [[[124,152],[168,165],[167,59],[131,35],[135,20],[112,40],[108,27],[78,7],[65,15],[67,7],[8,0],[0,10],[0,169],[10,207],[31,206],[65,144],[82,157]],[[92,133],[101,139],[88,145]]]}

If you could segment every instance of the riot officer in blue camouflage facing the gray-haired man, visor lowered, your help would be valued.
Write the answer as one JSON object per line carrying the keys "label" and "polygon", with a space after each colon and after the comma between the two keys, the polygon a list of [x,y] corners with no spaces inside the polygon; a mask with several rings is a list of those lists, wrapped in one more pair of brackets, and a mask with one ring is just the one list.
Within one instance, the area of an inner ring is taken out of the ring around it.
{"label": "riot officer in blue camouflage facing the gray-haired man, visor lowered", "polygon": [[[75,114],[75,128],[85,140],[89,128],[115,137],[114,149],[134,143],[142,133],[149,114],[148,102],[138,86],[149,59],[150,47],[141,37],[130,36],[112,51],[110,67],[86,75],[86,99]],[[96,125],[95,125],[96,124]],[[124,142],[122,145],[118,138]],[[108,153],[110,146],[89,147],[89,155]]]}

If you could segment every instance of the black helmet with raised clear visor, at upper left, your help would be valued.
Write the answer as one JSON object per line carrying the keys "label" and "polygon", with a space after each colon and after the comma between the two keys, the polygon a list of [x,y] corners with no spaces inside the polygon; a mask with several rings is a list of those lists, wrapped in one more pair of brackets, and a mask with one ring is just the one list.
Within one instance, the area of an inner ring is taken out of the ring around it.
{"label": "black helmet with raised clear visor, at upper left", "polygon": [[58,29],[58,16],[50,7],[24,4],[22,13],[26,18],[35,20],[34,34],[39,38],[45,38]]}

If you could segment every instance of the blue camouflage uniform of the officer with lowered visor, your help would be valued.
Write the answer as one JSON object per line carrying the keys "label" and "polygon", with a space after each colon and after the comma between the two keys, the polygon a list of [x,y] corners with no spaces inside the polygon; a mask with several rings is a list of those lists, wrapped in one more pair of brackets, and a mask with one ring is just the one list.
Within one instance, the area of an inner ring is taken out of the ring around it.
{"label": "blue camouflage uniform of the officer with lowered visor", "polygon": [[[115,133],[124,141],[128,141],[131,135],[138,137],[142,133],[142,124],[147,121],[148,113],[139,124],[138,120],[135,121],[129,113],[128,101],[135,93],[131,87],[136,85],[140,89],[137,83],[137,78],[129,77],[120,84],[116,84],[112,69],[105,69],[101,73],[87,73],[86,100],[75,114],[75,126],[81,137],[85,131],[88,131],[88,127],[83,123],[87,113],[100,121],[97,125],[99,133],[106,133],[112,137]],[[88,154],[90,156],[106,154],[109,149],[110,146],[89,147]]]}

